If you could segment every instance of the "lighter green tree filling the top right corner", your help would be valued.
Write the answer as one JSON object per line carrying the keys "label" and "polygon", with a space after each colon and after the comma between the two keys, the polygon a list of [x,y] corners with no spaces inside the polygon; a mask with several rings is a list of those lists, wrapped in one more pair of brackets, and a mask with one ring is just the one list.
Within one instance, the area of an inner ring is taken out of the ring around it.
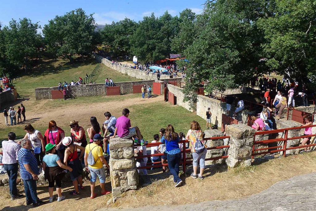
{"label": "lighter green tree filling the top right corner", "polygon": [[271,70],[303,81],[316,67],[316,2],[278,0],[269,18],[258,27],[266,39],[261,44]]}

